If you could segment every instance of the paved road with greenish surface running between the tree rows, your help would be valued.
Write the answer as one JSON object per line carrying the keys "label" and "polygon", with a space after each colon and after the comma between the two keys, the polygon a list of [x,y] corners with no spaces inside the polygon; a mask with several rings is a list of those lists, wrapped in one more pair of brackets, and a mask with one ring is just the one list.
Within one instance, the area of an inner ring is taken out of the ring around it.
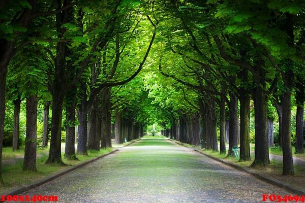
{"label": "paved road with greenish surface running between the tree rows", "polygon": [[290,194],[168,140],[147,139],[24,194],[59,202],[261,202]]}

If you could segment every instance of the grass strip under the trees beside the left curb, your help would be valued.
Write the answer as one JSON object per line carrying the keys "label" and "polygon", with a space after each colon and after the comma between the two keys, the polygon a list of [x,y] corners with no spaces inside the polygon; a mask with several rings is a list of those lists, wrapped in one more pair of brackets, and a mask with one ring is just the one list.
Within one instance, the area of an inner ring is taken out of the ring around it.
{"label": "grass strip under the trees beside the left curb", "polygon": [[[101,149],[100,151],[88,150],[88,156],[77,155],[77,158],[79,160],[68,160],[64,157],[64,153],[62,153],[63,162],[67,164],[65,166],[58,165],[58,164],[45,164],[45,162],[48,158],[48,155],[41,153],[41,156],[37,158],[37,163],[36,163],[37,172],[22,171],[23,160],[18,160],[16,164],[4,165],[3,166],[4,184],[0,185],[0,194],[13,187],[27,185],[31,182],[37,181],[46,176],[55,174],[56,172],[58,172],[60,170],[71,168],[78,163],[93,159],[93,158],[98,157],[103,154],[107,154],[113,150],[114,150],[114,148]],[[21,151],[21,149],[20,149],[20,151]],[[37,152],[39,152],[39,151],[40,151],[40,149],[37,150]],[[46,149],[42,149],[41,151],[48,152],[48,150],[46,150]],[[6,152],[8,152],[8,151],[6,151]],[[15,155],[20,154],[20,153],[21,152],[16,152],[11,157],[14,157]],[[23,156],[23,154],[21,154],[21,155]]]}

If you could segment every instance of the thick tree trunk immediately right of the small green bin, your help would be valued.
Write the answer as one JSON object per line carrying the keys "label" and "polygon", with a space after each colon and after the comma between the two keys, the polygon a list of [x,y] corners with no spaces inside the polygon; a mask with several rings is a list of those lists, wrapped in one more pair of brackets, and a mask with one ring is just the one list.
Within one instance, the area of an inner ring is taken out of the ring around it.
{"label": "thick tree trunk immediately right of the small green bin", "polygon": [[240,102],[240,159],[249,161],[250,157],[250,96],[243,90],[239,93]]}

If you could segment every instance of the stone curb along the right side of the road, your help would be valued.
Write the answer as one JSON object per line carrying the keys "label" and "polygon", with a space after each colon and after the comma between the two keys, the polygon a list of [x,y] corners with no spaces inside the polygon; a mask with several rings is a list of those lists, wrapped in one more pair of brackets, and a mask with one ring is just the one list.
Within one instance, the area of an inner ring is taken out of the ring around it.
{"label": "stone curb along the right side of the road", "polygon": [[[169,141],[174,142],[174,143],[176,143],[176,144],[178,144],[178,145],[181,145],[181,146],[190,148],[190,149],[194,149],[194,148],[191,148],[191,147],[188,147],[188,146],[184,145],[183,143],[178,143],[178,142],[176,142],[175,140],[169,139]],[[295,194],[297,194],[297,195],[305,195],[305,190],[295,188],[294,186],[292,186],[292,185],[290,185],[290,184],[288,184],[288,183],[284,183],[284,182],[279,181],[279,180],[277,180],[277,179],[269,178],[269,177],[266,177],[266,176],[264,176],[264,175],[261,175],[261,174],[252,172],[252,171],[248,170],[248,169],[245,168],[245,167],[239,166],[239,165],[234,164],[234,163],[226,162],[226,161],[224,161],[224,160],[221,160],[221,159],[216,158],[216,157],[214,157],[214,156],[208,155],[208,154],[206,154],[206,153],[204,153],[204,152],[202,152],[202,151],[199,151],[199,150],[197,150],[197,149],[194,149],[194,150],[195,150],[196,152],[198,152],[198,153],[200,153],[200,154],[202,154],[202,155],[208,157],[208,158],[211,158],[211,159],[213,159],[213,160],[216,160],[216,161],[218,161],[218,162],[221,162],[221,163],[224,163],[224,164],[226,164],[226,165],[228,165],[228,166],[231,166],[231,167],[233,167],[233,168],[236,168],[236,169],[239,170],[239,171],[248,173],[248,174],[250,174],[250,175],[256,177],[257,179],[260,179],[260,180],[264,181],[264,182],[267,182],[267,183],[269,183],[269,184],[272,184],[272,185],[275,185],[275,186],[284,188],[284,189],[289,190],[290,192],[293,192],[293,193],[295,193]]]}

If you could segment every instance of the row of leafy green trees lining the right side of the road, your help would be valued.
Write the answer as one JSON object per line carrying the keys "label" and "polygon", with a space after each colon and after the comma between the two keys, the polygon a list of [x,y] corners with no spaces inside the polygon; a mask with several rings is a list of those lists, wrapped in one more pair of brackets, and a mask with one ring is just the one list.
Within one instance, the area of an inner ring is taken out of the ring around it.
{"label": "row of leafy green trees lining the right side of the road", "polygon": [[[228,117],[228,156],[234,155],[232,147],[240,141],[240,160],[250,160],[253,101],[255,159],[252,165],[267,165],[270,163],[267,123],[273,106],[280,125],[283,175],[293,175],[291,109],[294,105],[295,153],[304,153],[304,8],[302,1],[166,2],[162,10],[166,17],[159,25],[162,41],[158,43],[156,65],[164,77],[172,79],[172,84],[160,79],[158,84],[165,92],[148,85],[163,112],[175,112],[173,116],[169,114],[172,118],[167,119],[164,127],[179,125],[175,138],[198,145],[200,136],[195,139],[193,136],[200,135],[195,126],[201,117],[205,147],[217,151],[219,121],[220,153],[226,153]],[[181,97],[186,101],[182,105],[173,101]]]}

